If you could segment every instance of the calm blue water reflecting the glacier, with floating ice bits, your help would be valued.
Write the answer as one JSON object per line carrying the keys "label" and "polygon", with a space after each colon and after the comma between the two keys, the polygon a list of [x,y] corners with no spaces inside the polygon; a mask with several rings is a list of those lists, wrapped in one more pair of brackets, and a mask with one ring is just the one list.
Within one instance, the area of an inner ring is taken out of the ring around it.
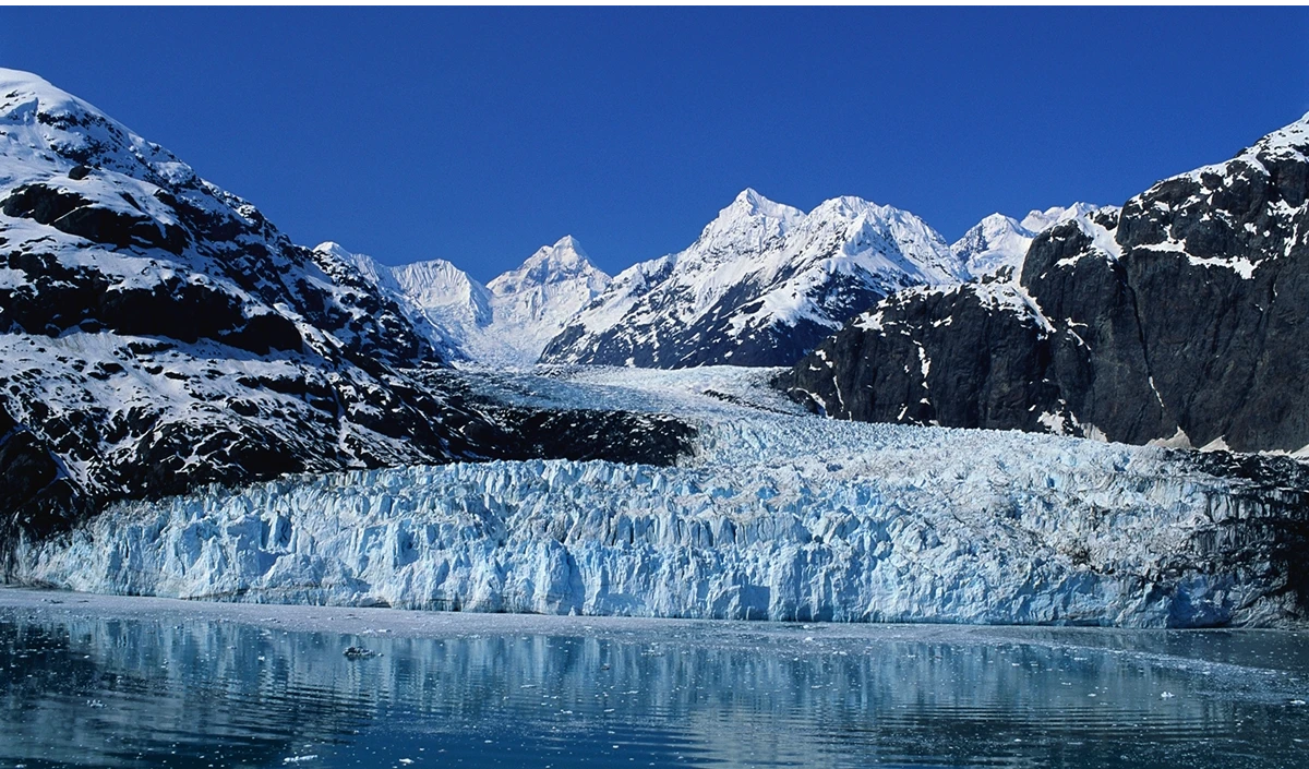
{"label": "calm blue water reflecting the glacier, with floating ice bits", "polygon": [[1306,641],[0,590],[0,768],[1309,766]]}

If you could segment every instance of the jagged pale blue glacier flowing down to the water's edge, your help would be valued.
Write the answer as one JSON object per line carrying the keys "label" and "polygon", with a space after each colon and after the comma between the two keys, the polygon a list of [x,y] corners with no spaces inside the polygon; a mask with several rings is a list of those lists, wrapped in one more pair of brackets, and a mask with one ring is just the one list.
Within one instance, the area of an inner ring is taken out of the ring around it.
{"label": "jagged pale blue glacier flowing down to the water's edge", "polygon": [[[467,371],[505,400],[677,413],[675,467],[490,462],[126,504],[24,544],[17,581],[94,592],[484,612],[835,621],[1276,624],[1267,513],[1189,455],[825,420],[775,370]],[[1236,543],[1236,544],[1233,544]],[[1249,543],[1245,543],[1249,544]]]}

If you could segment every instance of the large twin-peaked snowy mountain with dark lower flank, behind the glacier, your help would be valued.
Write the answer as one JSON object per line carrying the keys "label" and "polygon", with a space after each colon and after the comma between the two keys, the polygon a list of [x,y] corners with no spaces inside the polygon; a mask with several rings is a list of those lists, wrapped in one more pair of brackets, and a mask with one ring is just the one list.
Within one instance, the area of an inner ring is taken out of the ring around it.
{"label": "large twin-peaked snowy mountain with dark lower flank, behind the glacier", "polygon": [[963,277],[908,212],[836,197],[804,213],[745,190],[689,248],[619,273],[542,361],[789,364],[891,292]]}

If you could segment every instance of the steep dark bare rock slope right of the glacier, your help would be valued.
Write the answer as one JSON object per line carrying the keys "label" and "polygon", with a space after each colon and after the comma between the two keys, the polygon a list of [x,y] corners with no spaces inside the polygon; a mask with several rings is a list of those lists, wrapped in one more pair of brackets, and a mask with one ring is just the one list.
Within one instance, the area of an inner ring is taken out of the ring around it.
{"label": "steep dark bare rock slope right of the glacier", "polygon": [[1309,446],[1309,119],[1037,237],[1008,280],[889,297],[779,379],[831,416]]}

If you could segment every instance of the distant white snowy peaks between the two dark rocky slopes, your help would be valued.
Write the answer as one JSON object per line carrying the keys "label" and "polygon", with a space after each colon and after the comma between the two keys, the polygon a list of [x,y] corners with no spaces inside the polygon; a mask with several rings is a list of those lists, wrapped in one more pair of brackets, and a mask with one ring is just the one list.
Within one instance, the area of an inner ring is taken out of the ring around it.
{"label": "distant white snowy peaks between the two dark rocky slopes", "polygon": [[315,252],[355,264],[454,361],[779,366],[897,290],[1014,267],[1037,231],[1096,208],[992,214],[948,245],[889,205],[847,196],[805,213],[745,190],[690,247],[614,277],[567,235],[486,285],[444,259],[387,267],[330,242]]}

